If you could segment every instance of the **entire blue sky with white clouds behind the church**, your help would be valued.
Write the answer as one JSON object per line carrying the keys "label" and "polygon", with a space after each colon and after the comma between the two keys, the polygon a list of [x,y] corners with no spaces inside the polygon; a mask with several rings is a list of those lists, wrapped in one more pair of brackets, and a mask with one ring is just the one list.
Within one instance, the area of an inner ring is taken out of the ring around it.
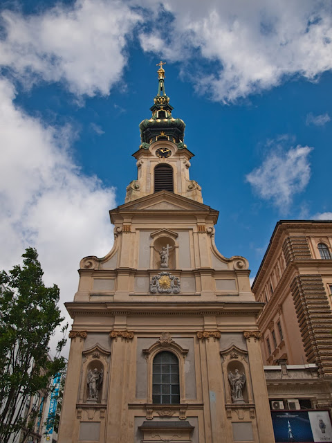
{"label": "entire blue sky with white clouds behind the church", "polygon": [[2,2],[1,269],[36,246],[73,299],[113,244],[160,59],[223,255],[254,277],[279,219],[332,219],[331,2],[277,3]]}

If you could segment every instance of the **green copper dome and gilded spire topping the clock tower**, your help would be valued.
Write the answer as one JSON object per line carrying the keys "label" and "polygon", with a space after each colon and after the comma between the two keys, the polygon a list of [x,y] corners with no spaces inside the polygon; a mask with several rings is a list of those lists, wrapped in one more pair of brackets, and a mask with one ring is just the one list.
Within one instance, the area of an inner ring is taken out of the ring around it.
{"label": "green copper dome and gilded spire topping the clock tower", "polygon": [[151,106],[151,118],[146,118],[140,123],[140,148],[149,149],[154,141],[168,140],[178,146],[178,150],[185,148],[183,138],[185,136],[185,122],[181,118],[173,118],[173,107],[169,105],[169,97],[165,92],[165,70],[163,62],[158,63],[158,93]]}

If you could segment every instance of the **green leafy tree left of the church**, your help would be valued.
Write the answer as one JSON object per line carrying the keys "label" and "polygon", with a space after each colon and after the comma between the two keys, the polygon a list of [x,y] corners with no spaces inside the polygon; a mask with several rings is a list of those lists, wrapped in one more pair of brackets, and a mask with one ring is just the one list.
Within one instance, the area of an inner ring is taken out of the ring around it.
{"label": "green leafy tree left of the church", "polygon": [[[46,287],[35,248],[22,255],[23,266],[0,273],[0,443],[7,443],[23,429],[23,442],[33,430],[40,401],[50,392],[50,381],[62,372],[65,361],[57,344],[48,356],[48,342],[62,323],[59,288]],[[66,326],[62,328],[64,334]],[[26,404],[33,399],[28,410]]]}

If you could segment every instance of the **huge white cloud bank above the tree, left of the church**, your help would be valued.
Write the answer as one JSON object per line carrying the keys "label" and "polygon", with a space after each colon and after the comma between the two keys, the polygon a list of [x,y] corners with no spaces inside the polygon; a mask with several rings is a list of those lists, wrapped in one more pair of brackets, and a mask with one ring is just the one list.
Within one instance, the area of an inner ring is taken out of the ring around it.
{"label": "huge white cloud bank above the tree, left of the church", "polygon": [[0,80],[0,269],[35,246],[46,284],[59,285],[62,302],[73,300],[82,257],[104,256],[113,244],[115,192],[77,168],[70,127],[45,126],[14,98],[12,84]]}

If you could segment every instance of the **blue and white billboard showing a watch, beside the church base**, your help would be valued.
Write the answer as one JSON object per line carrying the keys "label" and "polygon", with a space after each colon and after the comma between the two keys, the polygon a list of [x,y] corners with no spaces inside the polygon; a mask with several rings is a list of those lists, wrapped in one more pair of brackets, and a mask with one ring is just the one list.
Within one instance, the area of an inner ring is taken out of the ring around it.
{"label": "blue and white billboard showing a watch, beside the church base", "polygon": [[332,443],[328,410],[271,410],[276,443]]}

